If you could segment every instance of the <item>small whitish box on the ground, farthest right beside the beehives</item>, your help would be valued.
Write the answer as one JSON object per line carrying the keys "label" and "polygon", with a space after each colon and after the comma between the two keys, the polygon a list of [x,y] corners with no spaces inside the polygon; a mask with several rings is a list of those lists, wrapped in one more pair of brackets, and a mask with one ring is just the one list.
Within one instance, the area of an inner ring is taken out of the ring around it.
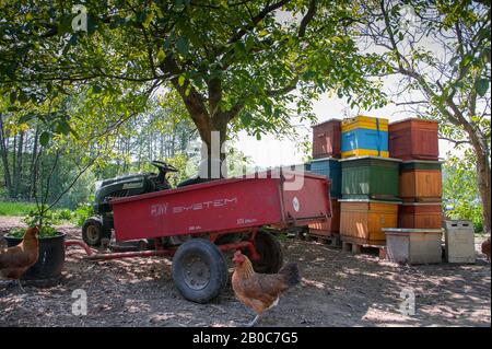
{"label": "small whitish box on the ground, farthest right beside the beehives", "polygon": [[446,260],[448,263],[475,263],[475,231],[470,221],[446,221]]}

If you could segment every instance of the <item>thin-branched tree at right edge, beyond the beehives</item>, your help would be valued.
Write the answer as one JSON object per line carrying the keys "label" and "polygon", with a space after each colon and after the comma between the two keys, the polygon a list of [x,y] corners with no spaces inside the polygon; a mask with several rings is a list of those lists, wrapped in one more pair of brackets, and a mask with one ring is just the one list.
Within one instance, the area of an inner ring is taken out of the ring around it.
{"label": "thin-branched tree at right edge, beyond the beehives", "polygon": [[400,78],[396,103],[441,121],[440,136],[467,146],[483,226],[491,231],[490,1],[368,1],[360,37]]}

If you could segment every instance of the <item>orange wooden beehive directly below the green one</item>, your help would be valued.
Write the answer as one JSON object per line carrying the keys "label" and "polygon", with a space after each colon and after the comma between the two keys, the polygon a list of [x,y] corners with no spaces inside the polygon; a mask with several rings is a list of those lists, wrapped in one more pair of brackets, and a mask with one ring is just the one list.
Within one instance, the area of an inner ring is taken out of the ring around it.
{"label": "orange wooden beehive directly below the green one", "polygon": [[361,245],[384,245],[383,228],[398,224],[398,203],[376,200],[340,200],[340,237]]}

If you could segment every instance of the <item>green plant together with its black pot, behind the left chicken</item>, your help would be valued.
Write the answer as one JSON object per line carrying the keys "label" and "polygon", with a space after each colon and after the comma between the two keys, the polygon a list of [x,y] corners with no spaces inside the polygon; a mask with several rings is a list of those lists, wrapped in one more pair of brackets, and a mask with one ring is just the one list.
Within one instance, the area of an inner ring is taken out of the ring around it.
{"label": "green plant together with its black pot, behind the left chicken", "polygon": [[[55,218],[51,211],[44,207],[30,212],[24,219],[27,226],[38,226],[39,257],[37,261],[22,276],[22,280],[50,281],[61,276],[65,264],[66,234],[55,229]],[[5,236],[7,246],[12,247],[22,242],[27,228],[11,230]]]}

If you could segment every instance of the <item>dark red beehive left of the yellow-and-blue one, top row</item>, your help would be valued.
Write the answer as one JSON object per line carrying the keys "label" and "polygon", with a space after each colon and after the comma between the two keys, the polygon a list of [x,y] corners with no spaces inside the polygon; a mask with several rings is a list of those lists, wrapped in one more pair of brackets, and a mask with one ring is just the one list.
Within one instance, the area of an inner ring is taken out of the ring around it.
{"label": "dark red beehive left of the yellow-and-blue one, top row", "polygon": [[340,159],[340,133],[341,120],[339,119],[329,119],[313,126],[313,158]]}

